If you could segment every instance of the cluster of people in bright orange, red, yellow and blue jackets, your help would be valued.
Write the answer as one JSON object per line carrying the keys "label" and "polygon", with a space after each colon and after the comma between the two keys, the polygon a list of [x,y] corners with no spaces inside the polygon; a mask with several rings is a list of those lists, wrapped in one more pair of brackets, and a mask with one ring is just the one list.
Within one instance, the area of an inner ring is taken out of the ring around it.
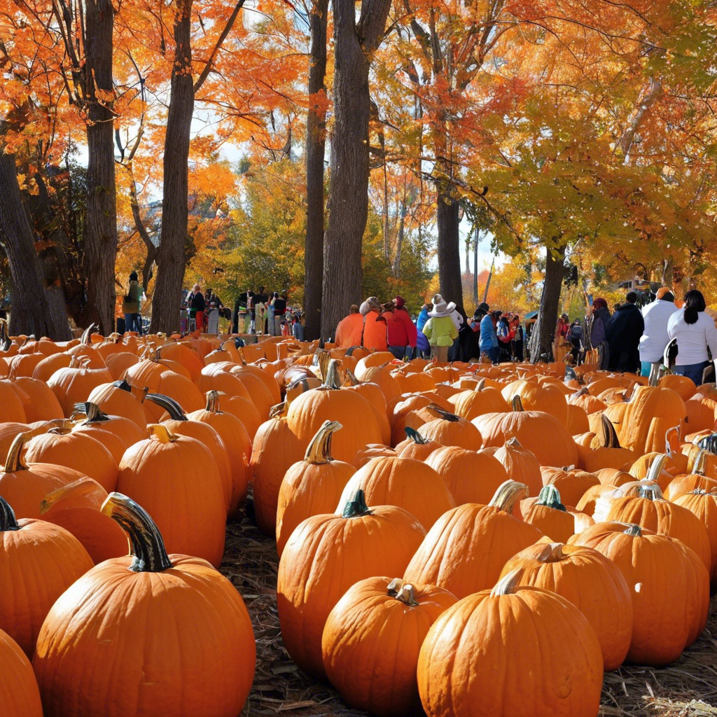
{"label": "cluster of people in bright orange, red, yellow and blue jackets", "polygon": [[397,359],[435,356],[439,361],[523,360],[523,325],[515,313],[490,310],[481,303],[468,318],[455,302],[436,294],[415,320],[404,298],[381,303],[370,296],[352,305],[336,327],[334,342],[341,348],[364,346],[390,351]]}

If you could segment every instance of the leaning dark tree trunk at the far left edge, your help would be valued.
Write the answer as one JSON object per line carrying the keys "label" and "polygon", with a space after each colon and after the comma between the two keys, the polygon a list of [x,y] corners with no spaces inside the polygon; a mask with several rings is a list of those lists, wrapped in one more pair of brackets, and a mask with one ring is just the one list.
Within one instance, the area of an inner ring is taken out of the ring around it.
{"label": "leaning dark tree trunk at the far left edge", "polygon": [[17,183],[15,157],[0,152],[0,240],[12,277],[10,333],[48,336],[53,341],[72,338],[65,299],[58,286],[46,289],[35,251],[22,195]]}

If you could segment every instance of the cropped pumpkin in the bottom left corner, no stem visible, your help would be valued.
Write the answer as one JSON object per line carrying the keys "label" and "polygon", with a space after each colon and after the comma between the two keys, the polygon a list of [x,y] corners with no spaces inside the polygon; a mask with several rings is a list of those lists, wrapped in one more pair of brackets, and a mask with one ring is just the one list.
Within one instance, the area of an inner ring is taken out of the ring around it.
{"label": "cropped pumpkin in the bottom left corner, no stem visible", "polygon": [[20,646],[0,630],[0,695],[3,717],[42,717],[32,665]]}

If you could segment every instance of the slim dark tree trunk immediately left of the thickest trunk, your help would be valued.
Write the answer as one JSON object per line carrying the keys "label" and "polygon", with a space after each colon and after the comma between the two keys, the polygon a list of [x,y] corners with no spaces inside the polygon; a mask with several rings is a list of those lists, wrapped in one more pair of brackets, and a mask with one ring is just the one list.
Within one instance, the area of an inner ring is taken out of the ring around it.
{"label": "slim dark tree trunk immediately left of the thickest trunk", "polygon": [[309,18],[309,110],[306,118],[306,243],[304,247],[304,335],[321,333],[323,295],[323,162],[326,154],[326,25],[328,0],[314,0]]}

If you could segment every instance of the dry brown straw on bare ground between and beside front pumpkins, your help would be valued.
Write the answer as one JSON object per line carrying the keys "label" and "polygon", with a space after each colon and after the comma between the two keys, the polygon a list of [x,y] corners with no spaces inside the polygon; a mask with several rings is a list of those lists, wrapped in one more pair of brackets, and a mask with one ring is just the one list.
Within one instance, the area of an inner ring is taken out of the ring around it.
{"label": "dry brown straw on bare ground between and beside front pumpkins", "polygon": [[[222,572],[242,594],[257,638],[256,677],[242,716],[365,715],[347,708],[328,684],[301,672],[285,651],[275,599],[278,564],[275,542],[248,518],[227,526]],[[677,663],[664,670],[630,667],[605,675],[599,714],[717,717],[717,600],[707,629]]]}

